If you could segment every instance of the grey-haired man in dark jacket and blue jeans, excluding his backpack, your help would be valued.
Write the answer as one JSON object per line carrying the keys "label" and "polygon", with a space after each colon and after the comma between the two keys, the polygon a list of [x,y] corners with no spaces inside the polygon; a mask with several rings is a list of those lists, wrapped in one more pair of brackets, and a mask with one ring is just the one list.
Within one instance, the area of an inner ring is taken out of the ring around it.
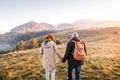
{"label": "grey-haired man in dark jacket and blue jeans, excluding his backpack", "polygon": [[[72,53],[74,52],[75,43],[72,40],[79,41],[78,33],[76,33],[76,32],[72,33],[71,40],[67,44],[66,52],[62,59],[62,62],[65,62],[66,60],[68,60],[68,80],[72,80],[72,70],[74,68],[75,68],[75,80],[80,80],[80,69],[81,69],[81,65],[83,63],[82,63],[82,61],[75,60],[73,58]],[[84,46],[85,46],[85,44],[84,44]],[[85,46],[84,50],[87,54],[86,46]]]}

